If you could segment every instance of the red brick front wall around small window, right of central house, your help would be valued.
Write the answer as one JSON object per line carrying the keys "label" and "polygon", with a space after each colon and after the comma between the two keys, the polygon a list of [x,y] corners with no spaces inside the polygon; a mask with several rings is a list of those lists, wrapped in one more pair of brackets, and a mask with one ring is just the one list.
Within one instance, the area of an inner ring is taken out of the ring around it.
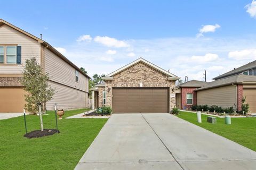
{"label": "red brick front wall around small window, right of central house", "polygon": [[[195,87],[182,87],[181,88],[181,109],[190,109],[192,105],[197,104],[197,94],[194,91]],[[193,94],[193,104],[187,105],[187,94]]]}

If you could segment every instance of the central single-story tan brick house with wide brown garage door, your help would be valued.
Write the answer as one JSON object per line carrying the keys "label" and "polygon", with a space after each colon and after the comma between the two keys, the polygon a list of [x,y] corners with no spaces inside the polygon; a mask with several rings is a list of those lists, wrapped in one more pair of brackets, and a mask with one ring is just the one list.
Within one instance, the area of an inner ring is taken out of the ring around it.
{"label": "central single-story tan brick house with wide brown garage door", "polygon": [[139,58],[91,89],[93,107],[110,106],[113,113],[169,113],[175,107],[175,81],[179,79]]}

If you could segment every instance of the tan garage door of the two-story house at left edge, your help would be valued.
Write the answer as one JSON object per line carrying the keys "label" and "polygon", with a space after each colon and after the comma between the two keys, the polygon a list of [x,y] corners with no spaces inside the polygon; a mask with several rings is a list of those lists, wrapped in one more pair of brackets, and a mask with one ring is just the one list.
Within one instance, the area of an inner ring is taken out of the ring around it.
{"label": "tan garage door of the two-story house at left edge", "polygon": [[23,88],[0,88],[0,113],[22,113],[24,104]]}

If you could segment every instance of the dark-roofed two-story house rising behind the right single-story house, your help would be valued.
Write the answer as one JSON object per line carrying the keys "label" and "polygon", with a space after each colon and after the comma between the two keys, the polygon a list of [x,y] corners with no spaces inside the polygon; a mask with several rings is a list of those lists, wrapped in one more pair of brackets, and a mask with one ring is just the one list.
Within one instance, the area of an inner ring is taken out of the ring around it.
{"label": "dark-roofed two-story house rising behind the right single-story house", "polygon": [[232,75],[238,75],[238,74],[256,75],[256,60],[251,63],[245,64],[241,67],[238,67],[237,69],[234,69],[227,73],[221,74],[221,75],[213,78],[213,80],[219,80],[219,79],[227,78]]}

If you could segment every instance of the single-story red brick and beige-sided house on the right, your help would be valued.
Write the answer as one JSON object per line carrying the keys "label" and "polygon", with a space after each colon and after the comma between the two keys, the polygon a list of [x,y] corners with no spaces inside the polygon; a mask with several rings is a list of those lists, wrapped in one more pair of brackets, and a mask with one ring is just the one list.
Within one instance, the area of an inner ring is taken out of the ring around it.
{"label": "single-story red brick and beige-sided house on the right", "polygon": [[[182,87],[180,89],[182,89]],[[237,111],[241,111],[242,98],[245,97],[245,103],[248,103],[250,106],[250,113],[256,113],[256,76],[254,75],[233,75],[231,77],[207,82],[200,88],[189,87],[183,91],[182,94],[186,94],[187,91],[193,94],[193,104],[217,105],[222,108],[234,107]],[[181,94],[179,89],[177,93]],[[178,94],[176,97],[179,96]],[[178,100],[180,100],[179,97],[177,97],[177,101]],[[183,109],[181,107],[182,105],[177,105],[177,107],[178,106]]]}

